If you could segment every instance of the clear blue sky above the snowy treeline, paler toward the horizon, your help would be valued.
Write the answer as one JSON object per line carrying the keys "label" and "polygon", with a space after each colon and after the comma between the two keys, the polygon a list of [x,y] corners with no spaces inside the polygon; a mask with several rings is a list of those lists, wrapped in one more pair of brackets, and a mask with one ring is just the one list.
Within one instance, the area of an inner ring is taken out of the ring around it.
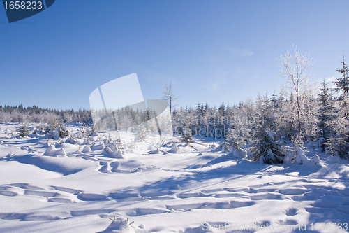
{"label": "clear blue sky above the snowy treeline, paler toward the horizon", "polygon": [[89,94],[137,73],[144,99],[172,80],[179,106],[272,94],[276,60],[298,45],[314,80],[349,62],[349,1],[57,0],[8,23],[0,6],[0,104],[89,108]]}

